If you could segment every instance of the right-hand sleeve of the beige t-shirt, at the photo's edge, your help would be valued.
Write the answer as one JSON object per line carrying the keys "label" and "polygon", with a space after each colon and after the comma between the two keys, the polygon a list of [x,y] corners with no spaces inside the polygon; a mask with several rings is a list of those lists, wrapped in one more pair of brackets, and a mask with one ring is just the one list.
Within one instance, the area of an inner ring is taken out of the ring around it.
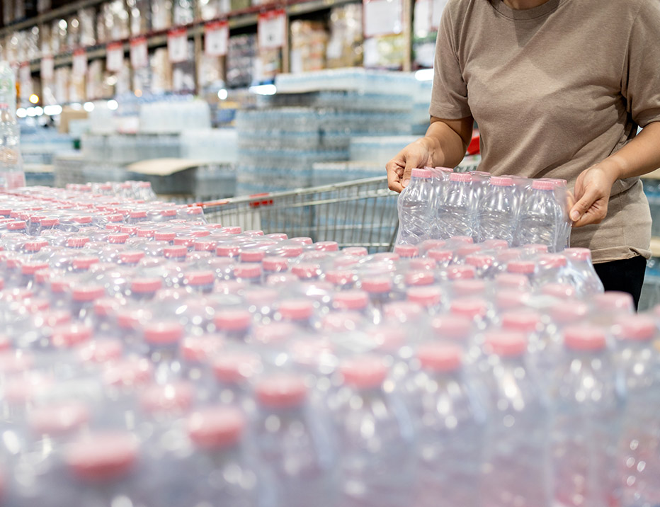
{"label": "right-hand sleeve of the beige t-shirt, at the photo's edge", "polygon": [[660,2],[643,0],[630,30],[622,76],[627,111],[640,127],[660,121]]}

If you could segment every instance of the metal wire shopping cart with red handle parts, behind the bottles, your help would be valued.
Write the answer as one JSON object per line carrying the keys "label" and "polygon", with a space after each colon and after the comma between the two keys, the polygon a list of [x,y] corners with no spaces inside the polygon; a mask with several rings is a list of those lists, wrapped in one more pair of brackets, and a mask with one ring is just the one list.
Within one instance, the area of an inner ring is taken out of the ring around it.
{"label": "metal wire shopping cart with red handle parts, behind the bottles", "polygon": [[387,178],[378,176],[198,205],[209,222],[376,252],[392,249],[397,237],[397,195],[388,190]]}

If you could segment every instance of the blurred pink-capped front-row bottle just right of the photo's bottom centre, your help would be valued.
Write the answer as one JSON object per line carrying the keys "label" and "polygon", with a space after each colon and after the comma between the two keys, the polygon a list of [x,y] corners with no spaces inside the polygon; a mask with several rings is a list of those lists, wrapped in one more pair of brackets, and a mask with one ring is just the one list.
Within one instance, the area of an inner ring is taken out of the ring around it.
{"label": "blurred pink-capped front-row bottle just right of the photo's bottom centre", "polygon": [[415,477],[414,432],[403,402],[383,389],[387,367],[355,356],[339,370],[343,384],[328,401],[340,452],[338,505],[404,506]]}

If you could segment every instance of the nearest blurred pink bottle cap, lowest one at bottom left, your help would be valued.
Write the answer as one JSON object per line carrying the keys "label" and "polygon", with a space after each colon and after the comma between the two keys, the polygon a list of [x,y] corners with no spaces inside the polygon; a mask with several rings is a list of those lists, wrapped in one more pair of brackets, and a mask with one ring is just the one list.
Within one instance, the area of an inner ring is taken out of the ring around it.
{"label": "nearest blurred pink bottle cap, lowest one at bottom left", "polygon": [[137,440],[130,433],[93,433],[70,445],[64,460],[79,479],[110,482],[130,472],[137,454]]}

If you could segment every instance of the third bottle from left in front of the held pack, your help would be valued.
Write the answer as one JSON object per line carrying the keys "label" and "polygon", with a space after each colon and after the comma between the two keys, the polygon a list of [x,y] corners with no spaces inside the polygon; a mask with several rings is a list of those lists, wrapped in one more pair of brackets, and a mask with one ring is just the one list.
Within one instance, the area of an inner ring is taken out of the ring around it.
{"label": "third bottle from left in front of the held pack", "polygon": [[503,239],[513,245],[518,227],[518,210],[513,200],[513,179],[491,176],[489,186],[479,200],[479,241]]}

